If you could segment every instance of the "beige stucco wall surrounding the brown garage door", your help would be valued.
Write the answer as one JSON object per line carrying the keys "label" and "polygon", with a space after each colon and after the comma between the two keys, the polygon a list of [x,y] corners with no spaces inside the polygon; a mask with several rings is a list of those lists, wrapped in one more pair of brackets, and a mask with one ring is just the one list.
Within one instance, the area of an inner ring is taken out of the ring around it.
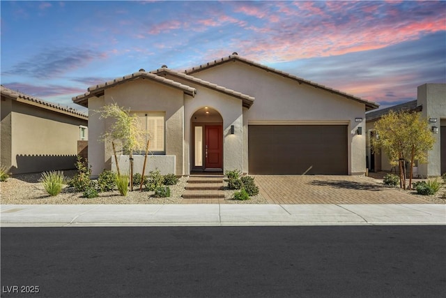
{"label": "beige stucco wall surrounding the brown garage door", "polygon": [[[254,121],[277,124],[277,120],[296,121],[294,124],[347,124],[348,173],[365,172],[367,134],[363,103],[330,94],[307,84],[298,84],[293,80],[237,61],[208,68],[194,73],[194,76],[255,97],[252,107],[243,112],[244,172],[249,167],[247,126]],[[362,123],[355,123],[357,117],[363,119]],[[362,135],[356,134],[358,127],[362,127]]]}

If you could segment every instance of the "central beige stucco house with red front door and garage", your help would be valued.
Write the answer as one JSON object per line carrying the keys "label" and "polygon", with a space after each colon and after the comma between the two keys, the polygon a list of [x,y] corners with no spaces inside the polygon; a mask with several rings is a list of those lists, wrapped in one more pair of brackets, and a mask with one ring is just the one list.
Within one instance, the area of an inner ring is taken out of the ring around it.
{"label": "central beige stucco house with red front door and garage", "polygon": [[[250,174],[364,174],[365,111],[376,103],[303,80],[233,53],[184,72],[167,66],[88,89],[75,103],[130,107],[151,134],[148,170],[177,175],[234,170]],[[114,168],[98,141],[111,119],[89,117],[92,175]],[[121,156],[123,167],[128,157]],[[135,171],[142,156],[134,157]],[[127,165],[128,166],[128,165]]]}

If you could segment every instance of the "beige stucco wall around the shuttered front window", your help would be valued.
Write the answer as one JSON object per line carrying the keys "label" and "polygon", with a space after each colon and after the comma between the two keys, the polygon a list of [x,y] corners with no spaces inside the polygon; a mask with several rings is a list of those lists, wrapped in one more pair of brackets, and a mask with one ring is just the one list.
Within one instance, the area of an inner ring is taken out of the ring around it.
{"label": "beige stucco wall around the shuttered front window", "polygon": [[[131,108],[131,112],[165,112],[165,154],[176,156],[176,172],[173,174],[183,174],[183,91],[151,80],[126,82],[106,89],[102,98],[89,99],[90,114],[93,114],[92,110],[100,110],[109,103]],[[89,162],[92,177],[112,167],[111,143],[104,144],[98,140],[112,123],[112,119],[98,119],[98,114],[90,117]]]}

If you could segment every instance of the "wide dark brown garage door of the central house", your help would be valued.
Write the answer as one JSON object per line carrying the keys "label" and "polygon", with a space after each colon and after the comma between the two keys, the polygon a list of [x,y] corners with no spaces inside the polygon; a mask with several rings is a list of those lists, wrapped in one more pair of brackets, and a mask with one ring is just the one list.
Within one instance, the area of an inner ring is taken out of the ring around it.
{"label": "wide dark brown garage door of the central house", "polygon": [[251,125],[250,174],[348,174],[347,126]]}

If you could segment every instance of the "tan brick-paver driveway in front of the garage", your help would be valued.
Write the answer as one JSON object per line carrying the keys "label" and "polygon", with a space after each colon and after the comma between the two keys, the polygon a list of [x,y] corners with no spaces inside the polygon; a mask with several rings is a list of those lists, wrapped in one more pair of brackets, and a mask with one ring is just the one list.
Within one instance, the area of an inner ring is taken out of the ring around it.
{"label": "tan brick-paver driveway in front of the garage", "polygon": [[363,176],[254,176],[271,204],[426,204],[416,195]]}

